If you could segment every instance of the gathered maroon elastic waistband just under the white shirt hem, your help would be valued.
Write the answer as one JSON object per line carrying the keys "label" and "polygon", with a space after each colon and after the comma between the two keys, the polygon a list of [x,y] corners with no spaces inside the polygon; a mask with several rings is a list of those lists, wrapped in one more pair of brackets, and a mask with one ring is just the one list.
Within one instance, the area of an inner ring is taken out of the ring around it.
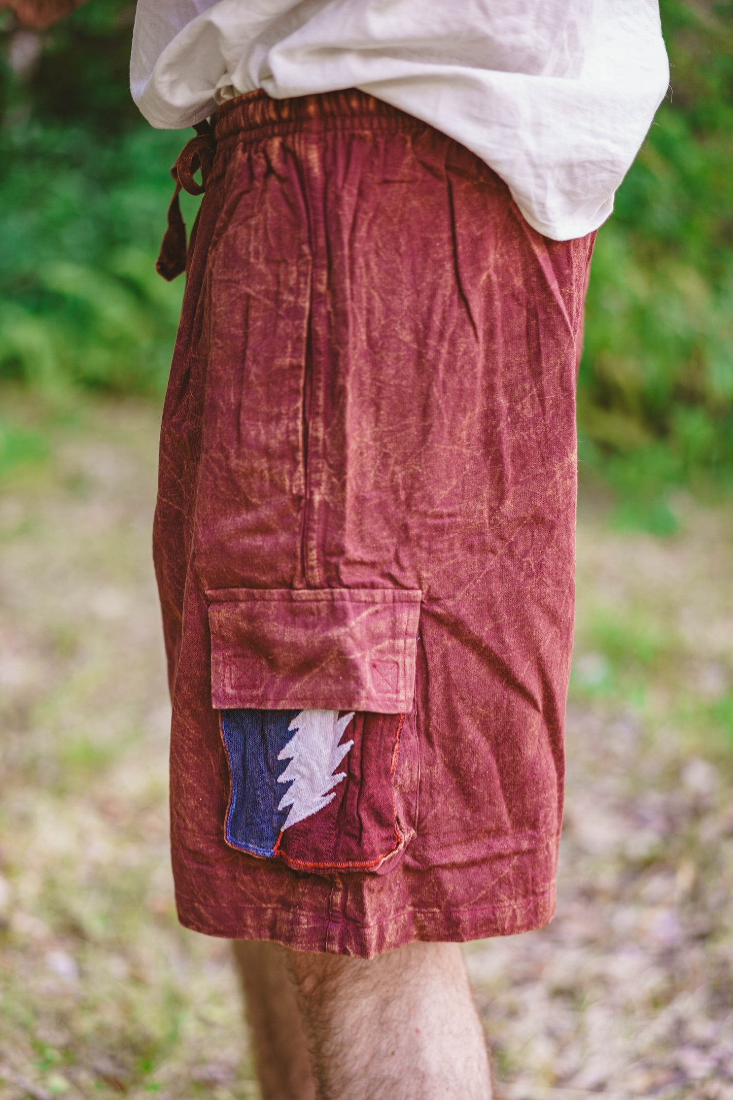
{"label": "gathered maroon elastic waistband just under the white shirt hem", "polygon": [[370,122],[379,127],[384,121],[388,122],[390,129],[425,129],[427,125],[358,88],[298,96],[293,99],[273,99],[258,88],[257,91],[247,91],[221,105],[214,118],[214,133],[220,142],[235,134],[252,133],[253,136],[258,136],[262,131],[277,131],[282,127],[299,129],[309,122],[338,125],[348,120],[358,120],[367,128]]}

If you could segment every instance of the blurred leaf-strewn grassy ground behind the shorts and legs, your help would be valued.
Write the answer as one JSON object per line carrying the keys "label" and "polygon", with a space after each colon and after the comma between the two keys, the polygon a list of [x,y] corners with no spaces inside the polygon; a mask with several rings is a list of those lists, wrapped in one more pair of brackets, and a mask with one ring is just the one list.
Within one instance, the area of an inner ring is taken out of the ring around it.
{"label": "blurred leaf-strewn grassy ground behind the shorts and legs", "polygon": [[[258,1096],[174,911],[156,431],[90,405],[0,482],[0,1100]],[[673,506],[581,493],[558,914],[466,948],[503,1100],[733,1100],[733,507]]]}

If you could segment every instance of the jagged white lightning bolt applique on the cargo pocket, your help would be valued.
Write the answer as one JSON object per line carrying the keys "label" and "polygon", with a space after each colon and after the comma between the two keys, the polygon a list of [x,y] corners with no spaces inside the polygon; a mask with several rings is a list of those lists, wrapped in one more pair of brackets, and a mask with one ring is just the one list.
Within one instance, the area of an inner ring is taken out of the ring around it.
{"label": "jagged white lightning bolt applique on the cargo pocket", "polygon": [[[332,787],[346,778],[345,771],[334,774],[335,769],[344,759],[354,741],[340,745],[344,729],[354,717],[345,714],[338,717],[337,711],[301,711],[288,726],[288,732],[295,730],[295,736],[288,741],[278,756],[278,760],[290,760],[278,783],[288,783],[290,788],[280,800],[278,810],[290,806],[284,829],[310,817],[325,806],[336,792]],[[331,794],[327,792],[331,791]]]}

